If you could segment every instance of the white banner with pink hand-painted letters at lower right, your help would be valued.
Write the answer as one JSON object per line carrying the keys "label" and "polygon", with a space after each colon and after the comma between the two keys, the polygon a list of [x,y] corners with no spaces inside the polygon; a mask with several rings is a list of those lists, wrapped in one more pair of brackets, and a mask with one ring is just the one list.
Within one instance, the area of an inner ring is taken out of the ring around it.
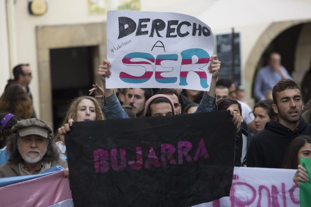
{"label": "white banner with pink hand-painted letters at lower right", "polygon": [[293,169],[234,167],[229,197],[195,207],[299,207]]}

